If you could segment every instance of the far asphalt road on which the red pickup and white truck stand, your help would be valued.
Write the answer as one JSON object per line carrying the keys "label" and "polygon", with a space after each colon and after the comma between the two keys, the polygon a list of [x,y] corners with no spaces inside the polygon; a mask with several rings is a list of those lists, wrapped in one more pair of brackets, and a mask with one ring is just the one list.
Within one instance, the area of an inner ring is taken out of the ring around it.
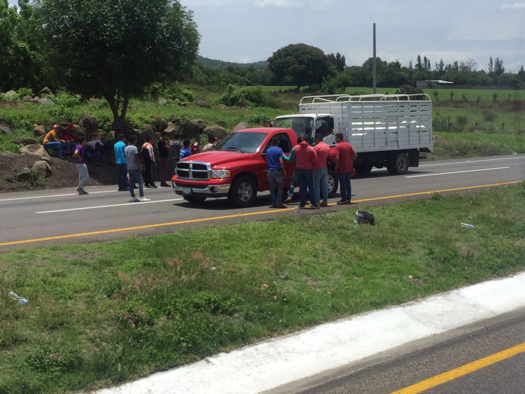
{"label": "far asphalt road on which the red pickup and white truck stand", "polygon": [[[525,155],[423,162],[406,175],[392,176],[386,169],[374,169],[366,177],[352,180],[352,200],[358,204],[350,209],[359,204],[424,198],[434,191],[465,193],[523,180]],[[290,205],[289,210],[271,210],[268,192],[259,193],[257,205],[248,209],[235,208],[227,199],[209,199],[195,205],[184,201],[171,188],[145,189],[151,202],[131,203],[129,192],[116,189],[87,188],[89,194],[82,196],[75,193],[75,187],[0,194],[0,250],[45,243],[107,241],[196,225],[264,220],[294,214],[293,207],[298,205]],[[335,209],[338,208],[331,206],[323,211]]]}

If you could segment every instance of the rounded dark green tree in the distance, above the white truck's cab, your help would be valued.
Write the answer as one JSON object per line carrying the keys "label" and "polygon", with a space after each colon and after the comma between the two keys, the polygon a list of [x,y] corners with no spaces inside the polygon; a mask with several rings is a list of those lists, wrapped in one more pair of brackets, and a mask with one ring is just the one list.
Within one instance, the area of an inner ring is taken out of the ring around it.
{"label": "rounded dark green tree in the distance, above the white truck's cab", "polygon": [[324,52],[306,44],[291,44],[280,48],[268,58],[268,68],[279,85],[321,85],[324,77],[332,76],[330,62]]}

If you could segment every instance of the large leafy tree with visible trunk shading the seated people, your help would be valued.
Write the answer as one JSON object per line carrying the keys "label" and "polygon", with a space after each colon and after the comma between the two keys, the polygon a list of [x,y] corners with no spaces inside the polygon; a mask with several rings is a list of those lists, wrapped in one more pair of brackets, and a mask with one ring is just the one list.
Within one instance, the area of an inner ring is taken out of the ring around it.
{"label": "large leafy tree with visible trunk shading the seated people", "polygon": [[41,0],[50,63],[72,92],[102,96],[113,129],[130,98],[194,64],[200,36],[178,0]]}

